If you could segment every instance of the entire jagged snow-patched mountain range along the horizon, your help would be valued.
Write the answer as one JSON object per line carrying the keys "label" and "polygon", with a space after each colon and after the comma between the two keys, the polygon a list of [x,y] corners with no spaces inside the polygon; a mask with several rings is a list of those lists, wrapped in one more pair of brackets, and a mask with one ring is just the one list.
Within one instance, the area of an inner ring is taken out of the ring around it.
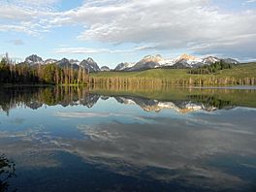
{"label": "entire jagged snow-patched mountain range along the horizon", "polygon": [[[240,62],[232,58],[218,58],[214,56],[208,57],[196,57],[189,54],[182,54],[175,59],[165,59],[160,54],[155,56],[147,55],[138,62],[119,63],[112,71],[142,71],[154,68],[198,68],[204,65],[210,65],[215,62],[223,61],[229,64],[239,64]],[[102,66],[101,68],[98,64],[91,58],[83,59],[82,61],[76,59],[62,58],[61,60],[47,59],[43,60],[42,57],[32,54],[25,58],[24,62],[19,64],[28,64],[29,66],[35,65],[48,65],[55,63],[56,65],[64,67],[72,67],[74,69],[84,68],[88,72],[99,72],[99,71],[111,71],[108,66]]]}

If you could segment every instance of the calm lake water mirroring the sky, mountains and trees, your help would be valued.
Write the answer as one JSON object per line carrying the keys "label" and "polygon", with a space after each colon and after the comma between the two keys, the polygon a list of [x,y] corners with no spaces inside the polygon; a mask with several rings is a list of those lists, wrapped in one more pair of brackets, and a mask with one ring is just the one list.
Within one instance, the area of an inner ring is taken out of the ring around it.
{"label": "calm lake water mirroring the sky, mountains and trees", "polygon": [[0,87],[0,154],[0,191],[255,191],[256,90]]}

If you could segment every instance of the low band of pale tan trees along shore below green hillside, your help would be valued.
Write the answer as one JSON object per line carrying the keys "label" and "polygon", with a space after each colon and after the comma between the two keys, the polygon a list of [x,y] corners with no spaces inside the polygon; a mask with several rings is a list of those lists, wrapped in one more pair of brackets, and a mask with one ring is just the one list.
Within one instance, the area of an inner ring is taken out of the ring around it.
{"label": "low band of pale tan trees along shore below green hillside", "polygon": [[185,78],[107,78],[107,77],[90,77],[90,86],[99,86],[103,84],[109,87],[157,87],[160,85],[255,85],[256,78],[231,78],[231,77],[214,77],[214,76],[187,76]]}

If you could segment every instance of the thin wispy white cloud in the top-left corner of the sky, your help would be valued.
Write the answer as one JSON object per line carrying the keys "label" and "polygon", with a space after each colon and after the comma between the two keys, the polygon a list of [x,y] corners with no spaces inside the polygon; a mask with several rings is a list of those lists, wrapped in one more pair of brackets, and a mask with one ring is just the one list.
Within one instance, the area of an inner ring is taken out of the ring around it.
{"label": "thin wispy white cloud in the top-left corner of the sky", "polygon": [[16,31],[29,35],[47,32],[50,28],[48,19],[55,14],[45,7],[49,5],[49,1],[46,0],[45,6],[41,8],[43,1],[38,2],[37,5],[30,3],[30,1],[23,4],[22,1],[1,2],[0,31]]}

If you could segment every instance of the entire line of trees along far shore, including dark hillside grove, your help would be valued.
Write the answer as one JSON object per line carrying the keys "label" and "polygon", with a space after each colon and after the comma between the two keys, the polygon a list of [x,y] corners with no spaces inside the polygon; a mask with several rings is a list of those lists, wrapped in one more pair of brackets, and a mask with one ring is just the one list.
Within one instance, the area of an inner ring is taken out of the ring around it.
{"label": "entire line of trees along far shore, including dark hillside grove", "polygon": [[[240,84],[254,85],[254,77],[218,77],[216,72],[223,69],[231,69],[233,64],[223,61],[204,66],[197,69],[186,70],[186,76],[178,78],[170,77],[125,77],[118,76],[89,76],[84,68],[74,69],[72,65],[60,67],[56,64],[33,65],[14,64],[8,59],[3,58],[0,62],[0,83],[17,84],[86,84],[95,86],[96,84],[105,84],[110,87],[157,87],[159,85],[225,85]],[[204,76],[208,74],[207,76]]]}

